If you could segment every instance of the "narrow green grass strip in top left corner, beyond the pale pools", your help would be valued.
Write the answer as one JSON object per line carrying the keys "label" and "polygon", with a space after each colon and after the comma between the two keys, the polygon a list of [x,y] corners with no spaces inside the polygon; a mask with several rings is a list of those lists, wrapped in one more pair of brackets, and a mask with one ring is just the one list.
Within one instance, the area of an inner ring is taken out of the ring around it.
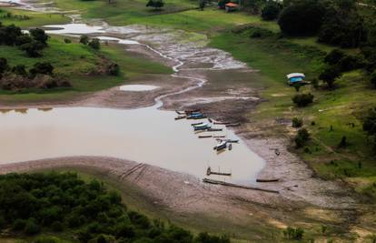
{"label": "narrow green grass strip in top left corner, beyond the pale pools", "polygon": [[[5,17],[7,13],[11,13],[13,16],[10,18]],[[27,15],[29,19],[20,19],[15,17],[15,15]],[[17,26],[27,28],[42,25],[65,24],[70,22],[70,18],[60,14],[43,14],[13,8],[0,8],[0,22],[3,25],[15,24]]]}

